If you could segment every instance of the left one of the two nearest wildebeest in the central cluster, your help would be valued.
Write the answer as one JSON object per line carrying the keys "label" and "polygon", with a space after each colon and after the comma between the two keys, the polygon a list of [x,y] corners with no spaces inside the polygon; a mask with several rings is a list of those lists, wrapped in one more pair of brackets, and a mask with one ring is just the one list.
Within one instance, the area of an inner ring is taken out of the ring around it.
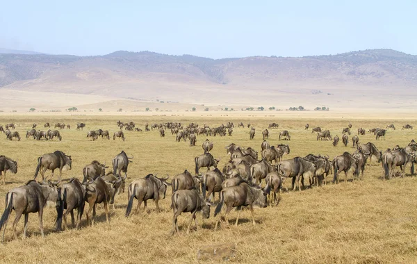
{"label": "left one of the two nearest wildebeest in the central cluster", "polygon": [[210,206],[212,206],[212,204],[205,201],[202,195],[200,195],[195,189],[178,190],[172,194],[171,201],[172,209],[174,211],[174,217],[172,218],[172,235],[174,235],[175,232],[179,233],[177,218],[181,215],[181,213],[191,213],[191,220],[190,224],[188,224],[187,234],[190,233],[193,220],[195,222],[195,226],[198,226],[197,218],[195,217],[197,212],[202,211],[203,219],[210,217]]}

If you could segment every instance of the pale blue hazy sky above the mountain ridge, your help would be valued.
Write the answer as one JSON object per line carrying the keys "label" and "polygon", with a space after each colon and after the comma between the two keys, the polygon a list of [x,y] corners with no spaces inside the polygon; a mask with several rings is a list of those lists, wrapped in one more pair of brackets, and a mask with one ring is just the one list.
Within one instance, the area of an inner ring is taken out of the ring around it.
{"label": "pale blue hazy sky above the mountain ridge", "polygon": [[155,51],[210,58],[361,49],[417,54],[417,1],[8,1],[0,47],[102,55]]}

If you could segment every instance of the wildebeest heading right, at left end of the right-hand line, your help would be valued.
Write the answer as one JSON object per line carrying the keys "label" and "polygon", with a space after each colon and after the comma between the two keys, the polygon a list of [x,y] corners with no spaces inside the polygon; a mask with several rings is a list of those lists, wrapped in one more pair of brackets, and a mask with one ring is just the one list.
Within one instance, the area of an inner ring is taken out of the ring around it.
{"label": "wildebeest heading right, at left end of the right-hand line", "polygon": [[[304,187],[304,177],[310,179],[316,172],[316,165],[301,157],[295,157],[291,160],[282,160],[278,165],[278,174],[286,178],[293,178],[292,189],[301,190]],[[296,183],[296,184],[295,184]]]}

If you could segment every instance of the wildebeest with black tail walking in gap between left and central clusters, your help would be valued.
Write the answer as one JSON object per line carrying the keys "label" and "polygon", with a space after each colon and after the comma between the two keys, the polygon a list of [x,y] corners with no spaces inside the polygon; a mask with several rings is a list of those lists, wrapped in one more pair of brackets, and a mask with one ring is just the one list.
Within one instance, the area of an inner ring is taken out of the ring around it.
{"label": "wildebeest with black tail walking in gap between left and central clusters", "polygon": [[167,192],[167,178],[158,178],[153,174],[148,174],[145,178],[136,179],[129,184],[127,188],[127,199],[129,203],[126,208],[126,217],[129,217],[132,207],[133,199],[138,199],[138,206],[136,206],[136,212],[138,212],[140,204],[145,204],[145,211],[147,207],[147,200],[153,199],[155,201],[156,210],[159,211],[158,201],[159,199],[165,199],[165,193]]}

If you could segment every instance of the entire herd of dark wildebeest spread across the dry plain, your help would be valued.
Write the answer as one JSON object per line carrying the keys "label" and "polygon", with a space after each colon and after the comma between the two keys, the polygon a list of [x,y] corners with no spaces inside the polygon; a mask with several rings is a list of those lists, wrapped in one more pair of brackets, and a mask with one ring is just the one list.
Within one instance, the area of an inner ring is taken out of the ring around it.
{"label": "entire herd of dark wildebeest spread across the dry plain", "polygon": [[[116,137],[124,141],[124,133],[121,130],[125,128],[128,131],[142,131],[135,127],[133,122],[123,123],[117,122],[120,131],[115,132],[113,139]],[[250,128],[250,124],[247,125]],[[52,140],[58,138],[61,140],[58,130],[55,131],[36,131],[36,124],[33,124],[33,129],[26,133],[26,138],[33,137],[34,139]],[[50,127],[49,123],[44,124],[44,127]],[[70,129],[70,125],[56,124],[56,128]],[[83,130],[84,123],[77,124],[77,130]],[[217,127],[199,126],[191,123],[188,126],[183,126],[178,122],[168,122],[164,124],[152,124],[149,129],[149,124],[145,124],[145,132],[157,130],[161,137],[165,137],[165,131],[171,131],[175,140],[178,142],[190,140],[190,145],[195,146],[197,137],[199,136],[231,136],[234,129],[234,124],[220,125]],[[241,122],[239,127],[245,128]],[[268,129],[277,129],[278,124],[272,123]],[[342,129],[342,141],[345,146],[349,142],[350,129],[352,125],[349,124]],[[6,131],[3,126],[0,126],[0,131],[4,131],[9,140],[15,138],[16,135],[10,136],[12,133],[9,129],[15,129],[15,124],[7,124]],[[237,208],[238,216],[236,218],[236,225],[240,217],[242,207],[250,209],[252,215],[252,222],[254,220],[254,206],[266,207],[268,201],[270,206],[277,206],[280,200],[280,192],[283,189],[283,183],[286,179],[292,179],[292,190],[302,190],[304,186],[304,179],[309,180],[309,188],[314,185],[320,186],[327,184],[327,176],[333,175],[333,183],[338,183],[338,175],[344,172],[344,179],[347,181],[348,172],[352,172],[354,179],[363,179],[363,172],[366,169],[366,163],[370,163],[371,158],[375,156],[377,162],[382,163],[382,178],[389,179],[396,176],[395,167],[400,167],[400,176],[404,176],[406,167],[410,167],[411,174],[414,174],[414,163],[417,162],[416,150],[417,143],[414,140],[409,142],[405,147],[395,146],[392,149],[380,151],[372,143],[359,143],[358,135],[366,133],[365,129],[359,128],[357,135],[353,135],[352,142],[354,151],[349,153],[344,151],[343,154],[329,158],[327,155],[297,156],[295,158],[284,160],[286,154],[290,154],[290,146],[285,144],[270,145],[267,141],[270,133],[265,129],[262,133],[263,142],[261,144],[261,155],[252,147],[241,147],[234,143],[224,146],[227,155],[230,156],[226,161],[222,170],[218,169],[220,162],[219,158],[215,158],[211,154],[213,149],[213,142],[206,139],[202,142],[203,154],[195,157],[195,174],[191,174],[188,170],[184,170],[180,174],[173,177],[158,177],[157,174],[147,174],[142,179],[133,180],[127,190],[127,207],[126,217],[131,215],[134,199],[138,200],[136,211],[143,203],[147,207],[148,200],[154,200],[157,210],[159,210],[158,201],[165,199],[168,186],[172,188],[171,208],[173,210],[172,219],[172,234],[179,232],[177,225],[177,217],[181,213],[190,212],[191,219],[188,224],[187,233],[190,231],[190,226],[195,221],[197,226],[196,214],[202,212],[204,218],[210,217],[210,208],[215,206],[214,215],[217,216],[215,222],[215,229],[224,217],[226,224],[229,224],[228,215],[232,208]],[[309,129],[309,125],[305,126],[305,130]],[[393,124],[386,126],[386,129],[370,129],[369,133],[374,133],[376,140],[383,138],[388,129],[395,129]],[[405,125],[403,129],[412,129],[412,126]],[[43,133],[42,133],[43,132]],[[57,132],[57,133],[56,133]],[[334,147],[338,144],[338,136],[332,138],[329,130],[322,130],[320,127],[313,128],[312,133],[317,133],[317,140],[329,140],[333,142]],[[250,139],[255,136],[255,129],[250,128]],[[18,133],[17,133],[18,135]],[[97,140],[98,136],[110,139],[108,131],[101,129],[97,131],[90,131],[87,135],[92,140]],[[20,140],[20,138],[19,138]],[[291,140],[288,131],[279,132],[279,140]],[[42,213],[47,201],[56,204],[56,223],[55,229],[61,230],[62,221],[65,229],[67,228],[67,215],[72,217],[72,225],[77,229],[80,227],[81,217],[83,215],[85,203],[89,205],[86,212],[86,219],[88,224],[94,224],[97,204],[103,204],[106,213],[107,222],[110,221],[108,213],[108,205],[113,204],[114,197],[124,192],[124,185],[127,179],[127,171],[129,163],[133,156],[129,157],[124,151],[117,154],[112,160],[113,170],[107,172],[109,166],[102,164],[97,160],[92,160],[90,164],[83,168],[83,179],[68,179],[62,180],[61,174],[63,170],[71,170],[72,158],[63,151],[54,151],[50,154],[44,154],[38,158],[38,164],[33,164],[35,171],[33,180],[28,181],[25,185],[18,188],[13,188],[6,194],[6,208],[0,220],[0,229],[6,230],[6,224],[11,211],[15,210],[16,216],[13,222],[13,232],[17,238],[16,225],[19,219],[24,215],[24,233],[26,236],[27,222],[29,213],[39,214],[40,231],[44,235]],[[369,160],[368,160],[369,159]],[[206,167],[207,172],[200,174],[202,167]],[[47,170],[51,170],[51,176],[45,176]],[[54,170],[59,171],[58,181],[51,181],[54,176]],[[5,184],[6,172],[17,173],[17,161],[6,156],[0,156],[0,171],[3,176],[3,185]],[[41,175],[42,181],[35,181]],[[262,184],[262,181],[265,184]],[[262,186],[263,185],[263,186]],[[215,193],[218,193],[218,201],[215,202]],[[77,217],[75,220],[74,209],[77,209]],[[223,213],[222,213],[223,212]],[[76,223],[75,223],[76,222]]]}

